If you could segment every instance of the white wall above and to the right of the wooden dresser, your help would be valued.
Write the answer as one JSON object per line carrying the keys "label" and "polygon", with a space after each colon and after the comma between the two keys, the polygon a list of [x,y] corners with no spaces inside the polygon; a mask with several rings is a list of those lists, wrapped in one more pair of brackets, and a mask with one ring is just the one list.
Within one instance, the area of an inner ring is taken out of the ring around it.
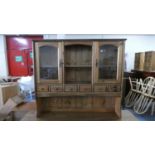
{"label": "white wall above and to the right of the wooden dresser", "polygon": [[114,39],[125,38],[125,60],[127,71],[134,68],[134,56],[136,52],[149,50],[155,51],[155,35],[108,35],[108,34],[59,34],[44,36],[45,39]]}

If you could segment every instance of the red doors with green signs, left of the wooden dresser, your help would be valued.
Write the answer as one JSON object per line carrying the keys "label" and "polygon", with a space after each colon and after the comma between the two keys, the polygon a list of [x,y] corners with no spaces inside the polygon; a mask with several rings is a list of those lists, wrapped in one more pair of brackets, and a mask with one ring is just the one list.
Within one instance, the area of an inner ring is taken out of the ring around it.
{"label": "red doors with green signs, left of the wooden dresser", "polygon": [[32,40],[43,36],[6,36],[9,75],[33,75]]}

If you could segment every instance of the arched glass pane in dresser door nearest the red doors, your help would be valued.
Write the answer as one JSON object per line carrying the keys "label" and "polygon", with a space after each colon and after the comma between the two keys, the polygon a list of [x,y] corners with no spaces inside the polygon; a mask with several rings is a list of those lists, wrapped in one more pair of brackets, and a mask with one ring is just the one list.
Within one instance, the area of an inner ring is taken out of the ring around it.
{"label": "arched glass pane in dresser door nearest the red doors", "polygon": [[42,46],[40,52],[40,78],[58,79],[58,48]]}

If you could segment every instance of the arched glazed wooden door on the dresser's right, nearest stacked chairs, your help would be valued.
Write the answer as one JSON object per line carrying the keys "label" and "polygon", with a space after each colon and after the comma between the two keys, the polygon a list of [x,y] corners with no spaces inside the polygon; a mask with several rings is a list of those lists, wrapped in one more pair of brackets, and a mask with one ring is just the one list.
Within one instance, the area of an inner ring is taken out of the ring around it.
{"label": "arched glazed wooden door on the dresser's right, nearest stacked chairs", "polygon": [[122,42],[96,42],[95,83],[121,82]]}

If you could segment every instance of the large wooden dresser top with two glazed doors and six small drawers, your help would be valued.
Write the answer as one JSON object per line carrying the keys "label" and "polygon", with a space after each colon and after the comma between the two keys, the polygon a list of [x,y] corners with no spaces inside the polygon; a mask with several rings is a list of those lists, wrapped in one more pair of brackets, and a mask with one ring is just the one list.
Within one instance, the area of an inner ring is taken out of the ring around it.
{"label": "large wooden dresser top with two glazed doors and six small drawers", "polygon": [[121,118],[125,40],[33,41],[37,116],[75,112]]}

